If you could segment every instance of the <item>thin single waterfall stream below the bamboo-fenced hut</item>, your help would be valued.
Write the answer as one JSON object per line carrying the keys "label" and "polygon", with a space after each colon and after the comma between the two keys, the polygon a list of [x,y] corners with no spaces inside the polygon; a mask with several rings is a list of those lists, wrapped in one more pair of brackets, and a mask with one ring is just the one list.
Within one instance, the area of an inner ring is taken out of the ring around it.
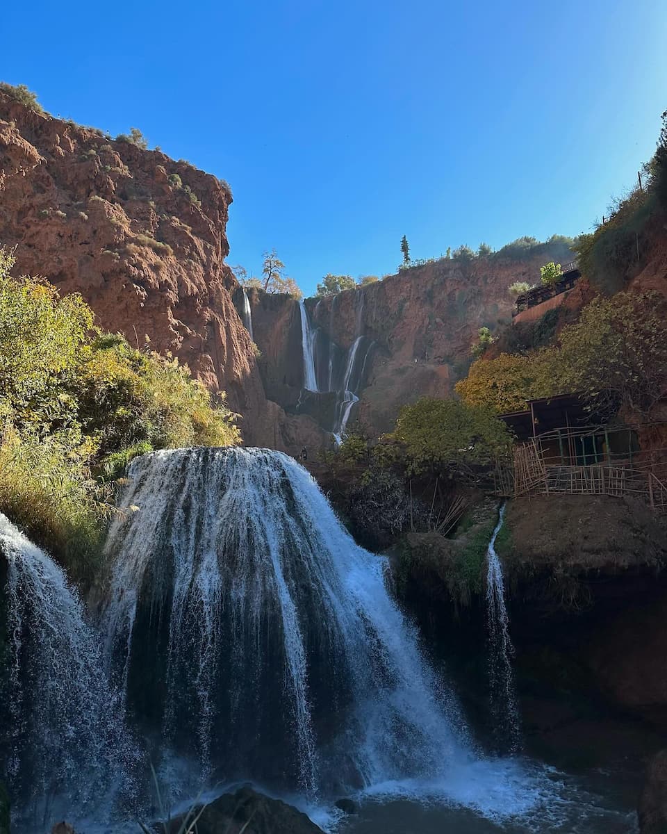
{"label": "thin single waterfall stream below the bamboo-fenced hut", "polygon": [[486,553],[486,605],[489,628],[489,685],[491,711],[499,746],[516,753],[520,747],[519,708],[514,691],[512,657],[514,646],[509,639],[509,618],[505,607],[503,568],[495,552],[495,540],[503,526],[505,505]]}

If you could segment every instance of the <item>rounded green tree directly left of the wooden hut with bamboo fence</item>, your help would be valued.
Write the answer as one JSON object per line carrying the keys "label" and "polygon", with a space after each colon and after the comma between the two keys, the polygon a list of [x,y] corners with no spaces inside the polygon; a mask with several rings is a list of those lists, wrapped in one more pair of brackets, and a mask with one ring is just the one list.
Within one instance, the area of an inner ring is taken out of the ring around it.
{"label": "rounded green tree directly left of the wooden hut with bamboo fence", "polygon": [[404,405],[390,440],[399,444],[409,474],[469,475],[511,446],[507,427],[488,408],[424,397]]}

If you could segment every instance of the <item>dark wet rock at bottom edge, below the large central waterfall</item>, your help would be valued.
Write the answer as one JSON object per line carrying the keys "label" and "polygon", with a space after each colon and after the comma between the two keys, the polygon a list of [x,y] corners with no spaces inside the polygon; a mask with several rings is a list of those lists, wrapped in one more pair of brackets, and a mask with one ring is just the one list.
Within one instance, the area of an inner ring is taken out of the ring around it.
{"label": "dark wet rock at bottom edge, below the large central waterfall", "polygon": [[[182,817],[172,821],[171,834],[177,834],[182,822]],[[205,806],[196,827],[198,834],[322,834],[301,811],[248,786]]]}

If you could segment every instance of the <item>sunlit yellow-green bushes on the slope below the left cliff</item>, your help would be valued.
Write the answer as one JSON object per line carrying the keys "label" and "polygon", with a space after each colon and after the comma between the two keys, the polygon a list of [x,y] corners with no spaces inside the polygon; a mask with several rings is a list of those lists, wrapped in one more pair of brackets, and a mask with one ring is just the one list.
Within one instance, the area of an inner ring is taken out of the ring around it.
{"label": "sunlit yellow-green bushes on the slope below the left cliff", "polygon": [[80,295],[13,265],[0,249],[0,511],[82,578],[134,455],[240,435],[177,359],[102,333]]}

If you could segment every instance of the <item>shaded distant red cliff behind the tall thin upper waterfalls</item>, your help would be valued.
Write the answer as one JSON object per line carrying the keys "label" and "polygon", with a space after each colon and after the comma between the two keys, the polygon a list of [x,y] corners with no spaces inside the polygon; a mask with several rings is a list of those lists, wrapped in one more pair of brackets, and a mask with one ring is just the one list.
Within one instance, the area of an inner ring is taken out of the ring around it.
{"label": "shaded distant red cliff behind the tall thin upper waterfalls", "polygon": [[363,289],[307,299],[319,389],[314,395],[302,390],[298,304],[253,291],[249,299],[265,389],[288,411],[310,414],[331,431],[344,410],[340,394],[349,371],[349,384],[359,396],[349,426],[359,421],[379,435],[393,427],[402,404],[452,394],[454,383],[467,373],[479,328],[494,330],[509,322],[509,284],[534,282],[545,261],[570,257],[566,246],[554,244],[529,259],[442,260]]}

